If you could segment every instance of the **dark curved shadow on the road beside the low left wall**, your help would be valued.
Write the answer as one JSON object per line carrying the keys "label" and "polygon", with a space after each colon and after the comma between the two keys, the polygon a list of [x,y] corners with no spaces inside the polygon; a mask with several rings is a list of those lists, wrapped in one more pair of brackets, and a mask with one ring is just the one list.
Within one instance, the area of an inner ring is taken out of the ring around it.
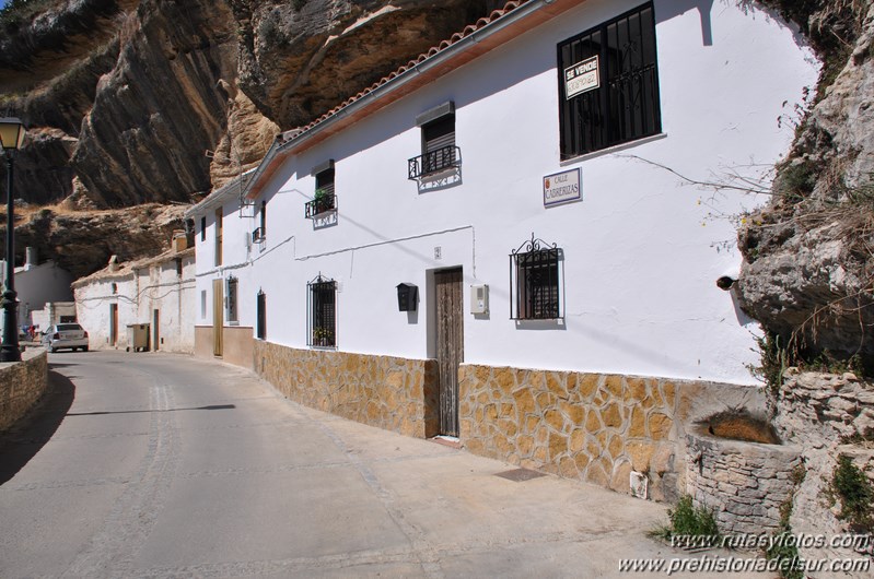
{"label": "dark curved shadow on the road beside the low left wall", "polygon": [[0,434],[0,485],[15,476],[51,439],[74,397],[73,382],[49,370],[46,393],[37,405],[12,428]]}

